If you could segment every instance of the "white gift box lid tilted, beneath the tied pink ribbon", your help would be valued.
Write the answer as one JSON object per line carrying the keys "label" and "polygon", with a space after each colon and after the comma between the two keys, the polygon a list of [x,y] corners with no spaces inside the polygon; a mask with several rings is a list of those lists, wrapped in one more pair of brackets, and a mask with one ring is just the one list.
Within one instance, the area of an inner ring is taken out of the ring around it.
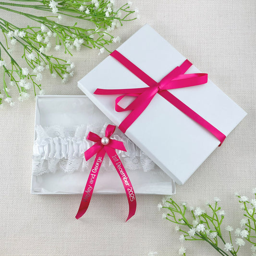
{"label": "white gift box lid tilted, beneath the tied pink ribbon", "polygon": [[[186,60],[148,24],[117,50],[155,81]],[[186,73],[201,72],[193,65]],[[117,95],[94,95],[94,91],[147,85],[108,56],[78,82],[78,87],[118,126],[129,111],[115,111]],[[170,92],[226,136],[246,115],[209,79],[207,84]],[[219,145],[214,135],[158,94],[125,134],[178,184],[183,184]]]}

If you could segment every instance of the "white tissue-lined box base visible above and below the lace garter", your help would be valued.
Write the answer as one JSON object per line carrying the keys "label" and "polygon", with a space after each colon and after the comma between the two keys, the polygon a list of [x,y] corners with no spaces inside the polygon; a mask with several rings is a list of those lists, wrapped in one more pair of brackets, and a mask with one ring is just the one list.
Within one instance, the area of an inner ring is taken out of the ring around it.
{"label": "white tissue-lined box base visible above and below the lace garter", "polygon": [[[35,126],[70,126],[106,121],[104,114],[86,96],[37,96]],[[93,131],[92,131],[93,132]],[[36,134],[35,134],[36,140]],[[107,156],[106,156],[107,157]],[[175,183],[158,166],[154,170],[126,170],[136,194],[171,195]],[[32,194],[82,194],[90,169],[65,173],[56,171],[32,175]],[[124,194],[116,171],[100,171],[94,189],[95,194]]]}

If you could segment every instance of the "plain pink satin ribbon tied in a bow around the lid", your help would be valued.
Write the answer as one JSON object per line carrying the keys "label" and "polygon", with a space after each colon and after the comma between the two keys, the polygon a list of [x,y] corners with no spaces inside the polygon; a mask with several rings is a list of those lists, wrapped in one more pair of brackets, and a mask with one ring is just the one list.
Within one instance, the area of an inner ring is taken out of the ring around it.
{"label": "plain pink satin ribbon tied in a bow around the lid", "polygon": [[[220,144],[225,140],[226,135],[221,133],[217,128],[207,122],[204,118],[199,116],[194,110],[190,109],[181,100],[171,94],[169,89],[183,88],[195,85],[203,85],[207,83],[206,73],[193,73],[185,74],[185,72],[192,66],[192,63],[185,60],[181,66],[176,67],[168,75],[166,75],[159,83],[153,80],[150,76],[144,73],[141,69],[135,66],[131,61],[125,58],[117,50],[110,54],[117,61],[122,63],[128,70],[136,75],[149,87],[132,88],[132,89],[97,89],[94,94],[97,95],[114,95],[122,94],[116,98],[115,110],[118,112],[131,110],[129,115],[121,122],[119,129],[125,133],[131,124],[140,116],[140,114],[146,109],[151,100],[158,93],[163,98],[168,100],[173,106],[181,110],[185,115],[193,119],[198,124],[206,128],[211,134],[213,134]],[[125,96],[136,97],[134,101],[125,109],[118,105],[119,101]]]}

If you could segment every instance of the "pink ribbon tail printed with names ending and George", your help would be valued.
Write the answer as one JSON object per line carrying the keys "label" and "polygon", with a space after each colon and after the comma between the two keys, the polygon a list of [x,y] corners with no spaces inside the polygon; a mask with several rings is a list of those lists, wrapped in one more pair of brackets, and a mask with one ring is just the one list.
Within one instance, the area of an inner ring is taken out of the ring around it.
{"label": "pink ribbon tail printed with names ending and George", "polygon": [[87,211],[87,209],[89,207],[91,197],[93,194],[93,189],[94,189],[97,177],[98,177],[98,171],[100,169],[100,166],[101,166],[102,160],[105,156],[105,153],[106,153],[106,151],[102,148],[96,155],[92,169],[88,176],[88,180],[85,185],[84,194],[82,196],[82,200],[81,200],[78,212],[75,216],[75,219],[80,219],[85,214],[85,212]]}

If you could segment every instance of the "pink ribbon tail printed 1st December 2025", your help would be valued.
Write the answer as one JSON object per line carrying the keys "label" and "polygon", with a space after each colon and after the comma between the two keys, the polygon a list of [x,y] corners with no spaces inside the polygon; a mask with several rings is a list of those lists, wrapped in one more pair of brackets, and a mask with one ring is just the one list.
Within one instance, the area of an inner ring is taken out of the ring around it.
{"label": "pink ribbon tail printed 1st December 2025", "polygon": [[120,160],[120,158],[118,157],[118,155],[116,154],[116,151],[111,148],[106,146],[105,150],[107,152],[107,154],[110,157],[111,162],[113,163],[117,173],[119,174],[127,199],[128,199],[128,203],[129,203],[129,214],[128,217],[126,219],[129,220],[131,219],[136,211],[136,198],[135,198],[135,193],[134,193],[134,188],[132,186],[132,183],[127,175],[127,172],[125,171],[122,162]]}

